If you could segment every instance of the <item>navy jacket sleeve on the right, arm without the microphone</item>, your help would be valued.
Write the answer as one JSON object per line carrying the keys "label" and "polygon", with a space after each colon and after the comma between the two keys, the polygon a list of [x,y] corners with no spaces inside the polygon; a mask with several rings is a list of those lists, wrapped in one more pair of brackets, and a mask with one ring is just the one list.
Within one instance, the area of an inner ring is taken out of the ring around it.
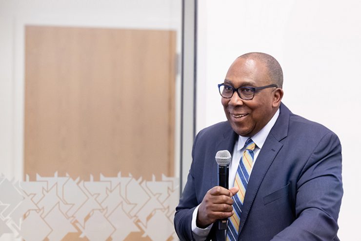
{"label": "navy jacket sleeve on the right, arm without the microphone", "polygon": [[337,219],[342,194],[341,143],[334,133],[328,132],[298,178],[296,220],[272,241],[338,240]]}

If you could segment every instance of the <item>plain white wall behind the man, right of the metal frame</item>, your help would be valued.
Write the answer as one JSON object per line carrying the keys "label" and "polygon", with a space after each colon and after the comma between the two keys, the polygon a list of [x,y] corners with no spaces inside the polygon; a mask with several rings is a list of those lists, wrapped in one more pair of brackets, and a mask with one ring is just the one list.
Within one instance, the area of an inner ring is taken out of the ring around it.
{"label": "plain white wall behind the man, right of the metal frame", "polygon": [[274,56],[283,102],[338,134],[344,197],[341,240],[359,237],[361,161],[361,2],[358,0],[199,0],[197,130],[226,120],[217,84],[241,54]]}

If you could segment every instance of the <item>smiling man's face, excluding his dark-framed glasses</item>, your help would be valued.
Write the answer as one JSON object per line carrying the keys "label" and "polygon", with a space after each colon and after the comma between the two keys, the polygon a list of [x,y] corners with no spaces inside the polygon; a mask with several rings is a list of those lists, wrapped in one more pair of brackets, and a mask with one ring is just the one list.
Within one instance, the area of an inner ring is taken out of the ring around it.
{"label": "smiling man's face, excluding his dark-framed glasses", "polygon": [[[264,64],[258,60],[241,58],[232,63],[224,83],[234,88],[272,84]],[[252,100],[242,100],[236,92],[231,99],[222,98],[225,115],[238,135],[251,137],[271,120],[281,101],[277,101],[274,90],[275,88],[266,88],[256,92]]]}

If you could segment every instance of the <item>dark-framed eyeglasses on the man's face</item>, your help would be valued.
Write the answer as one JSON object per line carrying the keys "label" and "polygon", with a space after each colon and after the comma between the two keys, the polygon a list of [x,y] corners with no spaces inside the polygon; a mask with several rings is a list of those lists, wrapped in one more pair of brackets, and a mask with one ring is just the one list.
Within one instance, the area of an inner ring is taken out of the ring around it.
{"label": "dark-framed eyeglasses on the man's face", "polygon": [[250,86],[241,86],[235,89],[233,86],[228,84],[219,84],[218,89],[220,90],[220,94],[223,98],[230,99],[233,96],[233,93],[237,91],[238,96],[242,100],[252,100],[255,96],[255,92],[258,92],[265,88],[277,87],[276,84],[261,86],[261,87],[250,87]]}

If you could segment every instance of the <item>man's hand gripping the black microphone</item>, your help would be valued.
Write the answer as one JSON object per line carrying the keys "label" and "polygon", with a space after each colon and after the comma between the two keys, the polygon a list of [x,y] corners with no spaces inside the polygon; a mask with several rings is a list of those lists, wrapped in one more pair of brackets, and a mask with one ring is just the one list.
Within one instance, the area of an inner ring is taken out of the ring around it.
{"label": "man's hand gripping the black microphone", "polygon": [[197,227],[205,228],[218,219],[231,217],[233,215],[232,197],[237,192],[237,187],[228,190],[215,186],[208,190],[198,209]]}

